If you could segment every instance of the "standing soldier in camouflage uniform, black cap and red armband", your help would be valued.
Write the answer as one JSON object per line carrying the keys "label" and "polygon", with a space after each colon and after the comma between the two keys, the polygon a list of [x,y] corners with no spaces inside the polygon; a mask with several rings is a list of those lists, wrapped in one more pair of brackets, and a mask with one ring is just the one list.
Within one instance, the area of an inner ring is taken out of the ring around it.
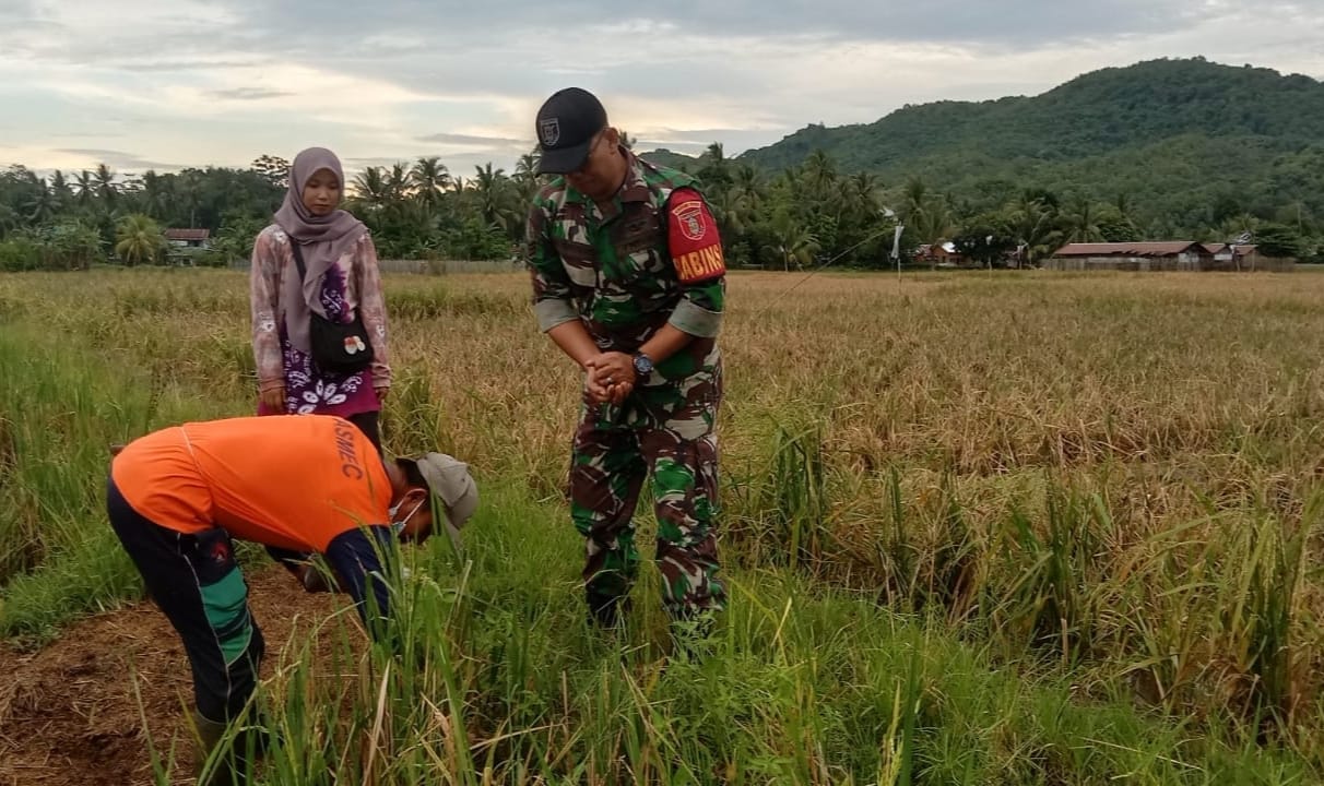
{"label": "standing soldier in camouflage uniform, black cap and red armband", "polygon": [[592,619],[618,622],[638,572],[633,516],[651,474],[657,562],[674,619],[711,619],[718,577],[718,441],[726,265],[692,180],[637,159],[592,94],[538,114],[528,267],[539,327],[585,371],[571,457],[571,516],[587,539]]}

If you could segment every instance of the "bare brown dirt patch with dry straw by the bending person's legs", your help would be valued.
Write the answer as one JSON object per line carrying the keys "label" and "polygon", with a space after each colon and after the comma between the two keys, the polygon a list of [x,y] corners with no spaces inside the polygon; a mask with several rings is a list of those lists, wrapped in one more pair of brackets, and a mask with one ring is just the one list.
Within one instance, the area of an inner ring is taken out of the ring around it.
{"label": "bare brown dirt patch with dry straw by the bending person's legs", "polygon": [[[295,627],[338,601],[305,593],[275,565],[246,578],[270,676]],[[152,603],[79,622],[40,652],[0,647],[0,786],[152,783],[148,736],[163,756],[175,746],[175,782],[188,783],[192,704],[184,647]]]}

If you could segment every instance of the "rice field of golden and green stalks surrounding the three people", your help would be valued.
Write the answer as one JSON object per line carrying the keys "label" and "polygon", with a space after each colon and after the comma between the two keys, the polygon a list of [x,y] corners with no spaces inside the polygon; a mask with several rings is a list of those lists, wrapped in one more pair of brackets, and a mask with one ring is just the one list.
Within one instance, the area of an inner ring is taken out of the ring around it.
{"label": "rice field of golden and green stalks surrounding the three people", "polygon": [[[402,656],[343,610],[269,644],[254,782],[1324,781],[1324,275],[732,274],[703,663],[649,582],[584,625],[580,381],[527,279],[385,283],[387,447],[471,462],[483,508],[409,554]],[[236,271],[0,277],[11,651],[142,599],[106,446],[253,412],[246,315]],[[159,726],[127,782],[187,782]]]}

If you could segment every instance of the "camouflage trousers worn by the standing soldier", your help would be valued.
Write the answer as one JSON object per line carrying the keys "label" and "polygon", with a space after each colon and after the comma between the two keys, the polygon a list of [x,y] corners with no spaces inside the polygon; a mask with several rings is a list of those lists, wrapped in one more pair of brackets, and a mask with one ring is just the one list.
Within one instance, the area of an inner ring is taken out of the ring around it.
{"label": "camouflage trousers worn by the standing soldier", "polygon": [[663,605],[677,618],[726,606],[714,533],[720,402],[720,367],[637,388],[621,406],[585,400],[572,451],[571,517],[587,540],[591,605],[624,598],[638,576],[634,512],[651,476]]}

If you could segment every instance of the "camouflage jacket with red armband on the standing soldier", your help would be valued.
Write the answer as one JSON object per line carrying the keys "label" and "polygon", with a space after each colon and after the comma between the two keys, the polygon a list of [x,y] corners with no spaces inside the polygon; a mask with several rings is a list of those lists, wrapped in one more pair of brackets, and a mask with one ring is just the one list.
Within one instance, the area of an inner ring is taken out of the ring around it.
{"label": "camouflage jacket with red armband on the standing soldier", "polygon": [[605,213],[564,177],[534,198],[527,263],[539,327],[580,319],[600,349],[634,352],[670,323],[695,339],[658,364],[662,380],[712,372],[726,295],[716,222],[691,177],[625,155]]}

